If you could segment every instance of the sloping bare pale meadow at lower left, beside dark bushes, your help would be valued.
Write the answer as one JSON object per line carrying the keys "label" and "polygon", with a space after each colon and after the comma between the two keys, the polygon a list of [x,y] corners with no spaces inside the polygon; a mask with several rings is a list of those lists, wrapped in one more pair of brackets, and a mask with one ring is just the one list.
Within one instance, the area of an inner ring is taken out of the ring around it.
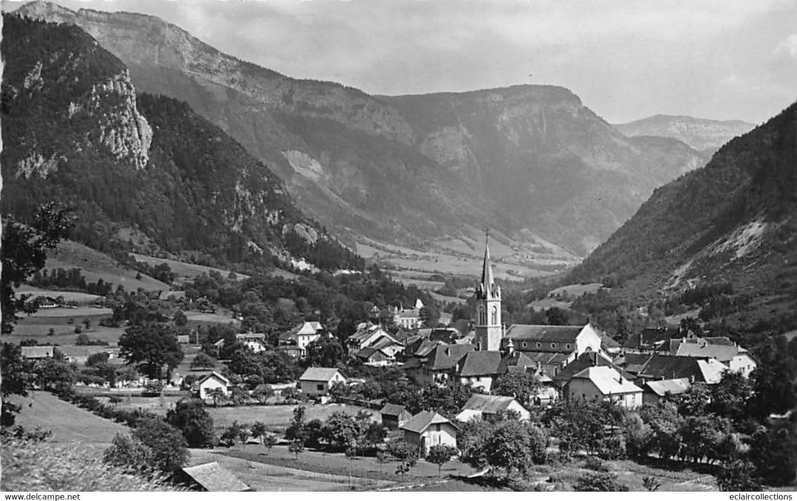
{"label": "sloping bare pale meadow at lower left, beside dark bushes", "polygon": [[27,398],[14,396],[12,401],[22,405],[16,424],[26,429],[51,429],[53,442],[107,445],[116,433],[130,433],[127,427],[59,400],[52,393],[33,391]]}

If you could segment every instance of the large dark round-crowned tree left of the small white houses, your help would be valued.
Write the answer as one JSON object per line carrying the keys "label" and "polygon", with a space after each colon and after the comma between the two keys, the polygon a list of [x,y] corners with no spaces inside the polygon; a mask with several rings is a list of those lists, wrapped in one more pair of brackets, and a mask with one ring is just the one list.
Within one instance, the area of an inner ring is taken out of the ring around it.
{"label": "large dark round-crowned tree left of the small white houses", "polygon": [[117,344],[125,362],[150,378],[159,379],[164,365],[171,371],[183,361],[175,328],[165,324],[128,327]]}

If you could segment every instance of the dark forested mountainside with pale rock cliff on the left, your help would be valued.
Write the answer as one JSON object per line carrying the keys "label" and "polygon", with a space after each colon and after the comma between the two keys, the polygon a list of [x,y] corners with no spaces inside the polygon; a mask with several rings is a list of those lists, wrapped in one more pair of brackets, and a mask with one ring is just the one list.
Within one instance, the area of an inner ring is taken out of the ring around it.
{"label": "dark forested mountainside with pale rock cliff on the left", "polygon": [[136,229],[217,260],[361,260],[304,217],[280,178],[188,105],[136,96],[124,64],[74,25],[4,16],[2,209],[73,205],[102,248]]}

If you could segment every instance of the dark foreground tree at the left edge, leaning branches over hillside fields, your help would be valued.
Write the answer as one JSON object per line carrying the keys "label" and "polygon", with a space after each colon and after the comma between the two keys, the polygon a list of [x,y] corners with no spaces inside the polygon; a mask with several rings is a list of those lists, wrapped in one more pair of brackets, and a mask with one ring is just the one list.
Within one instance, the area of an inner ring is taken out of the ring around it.
{"label": "dark foreground tree at the left edge, leaning branches over hillside fields", "polygon": [[18,312],[33,313],[38,302],[30,300],[29,294],[14,295],[14,289],[45,267],[47,252],[55,249],[58,242],[69,236],[74,219],[69,209],[57,202],[50,202],[37,209],[30,225],[14,217],[3,218],[2,225],[2,280],[0,280],[0,332],[9,334],[17,322]]}

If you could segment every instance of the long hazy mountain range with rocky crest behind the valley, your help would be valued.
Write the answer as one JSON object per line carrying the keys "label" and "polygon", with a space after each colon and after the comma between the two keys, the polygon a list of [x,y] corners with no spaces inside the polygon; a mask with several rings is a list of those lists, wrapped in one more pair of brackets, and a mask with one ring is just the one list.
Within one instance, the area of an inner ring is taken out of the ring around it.
{"label": "long hazy mountain range with rocky crest behind the valley", "polygon": [[185,100],[352,240],[456,252],[450,242],[489,226],[519,256],[543,241],[572,260],[701,163],[675,141],[626,138],[563,88],[368,96],[239,61],[151,16],[45,2],[19,12],[86,29],[137,88]]}

